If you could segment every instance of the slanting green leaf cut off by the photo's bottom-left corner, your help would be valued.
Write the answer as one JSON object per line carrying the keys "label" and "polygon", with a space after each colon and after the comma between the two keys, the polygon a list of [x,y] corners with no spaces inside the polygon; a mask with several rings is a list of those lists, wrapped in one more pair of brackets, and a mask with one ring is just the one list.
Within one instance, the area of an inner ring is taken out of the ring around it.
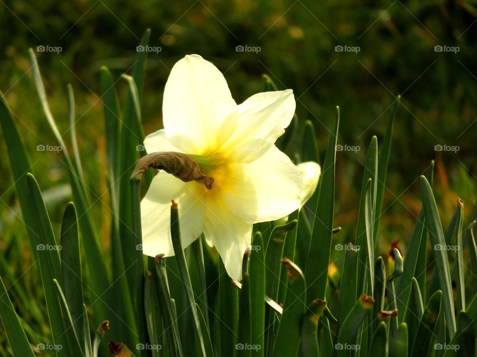
{"label": "slanting green leaf cut off by the photo's bottom-left corner", "polygon": [[26,338],[25,331],[21,327],[18,315],[13,309],[13,305],[11,304],[1,278],[0,289],[0,319],[13,356],[34,357],[35,354]]}

